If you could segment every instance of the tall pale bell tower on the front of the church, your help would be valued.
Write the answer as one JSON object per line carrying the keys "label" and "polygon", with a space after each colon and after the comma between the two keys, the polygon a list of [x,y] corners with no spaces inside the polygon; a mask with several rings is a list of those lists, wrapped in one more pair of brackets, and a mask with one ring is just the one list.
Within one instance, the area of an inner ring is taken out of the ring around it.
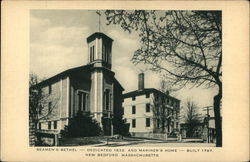
{"label": "tall pale bell tower on the front of the church", "polygon": [[[91,66],[90,112],[104,128],[107,124],[102,122],[103,119],[107,114],[113,114],[112,42],[110,37],[101,32],[87,38],[88,64]],[[109,125],[108,130],[112,130],[112,124]]]}

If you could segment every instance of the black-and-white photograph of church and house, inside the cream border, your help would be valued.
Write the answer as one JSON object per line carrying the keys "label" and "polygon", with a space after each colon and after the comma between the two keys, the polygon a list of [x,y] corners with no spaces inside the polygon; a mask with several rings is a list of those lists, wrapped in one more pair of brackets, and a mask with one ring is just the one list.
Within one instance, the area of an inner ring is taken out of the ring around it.
{"label": "black-and-white photograph of church and house, inside the cream border", "polygon": [[29,146],[223,147],[221,10],[30,10]]}

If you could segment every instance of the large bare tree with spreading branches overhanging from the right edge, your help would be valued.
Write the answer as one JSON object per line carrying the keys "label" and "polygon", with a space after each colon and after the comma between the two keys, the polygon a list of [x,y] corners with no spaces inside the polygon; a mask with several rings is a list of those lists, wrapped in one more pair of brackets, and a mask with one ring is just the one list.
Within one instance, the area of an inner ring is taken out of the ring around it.
{"label": "large bare tree with spreading branches overhanging from the right edge", "polygon": [[108,24],[139,33],[141,47],[132,58],[160,71],[174,86],[216,87],[214,114],[216,146],[222,146],[221,11],[107,10]]}

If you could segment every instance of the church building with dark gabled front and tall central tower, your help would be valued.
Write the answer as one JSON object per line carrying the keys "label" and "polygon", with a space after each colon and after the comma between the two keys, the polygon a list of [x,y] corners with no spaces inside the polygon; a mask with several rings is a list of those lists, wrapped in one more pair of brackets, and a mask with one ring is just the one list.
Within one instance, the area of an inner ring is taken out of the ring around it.
{"label": "church building with dark gabled front and tall central tower", "polygon": [[39,111],[39,117],[49,115],[39,121],[40,130],[59,133],[77,113],[89,112],[102,128],[108,128],[105,134],[113,134],[112,120],[104,121],[122,118],[124,89],[111,70],[112,42],[104,33],[93,33],[87,38],[87,65],[65,70],[35,85],[48,95],[43,105],[46,109]]}

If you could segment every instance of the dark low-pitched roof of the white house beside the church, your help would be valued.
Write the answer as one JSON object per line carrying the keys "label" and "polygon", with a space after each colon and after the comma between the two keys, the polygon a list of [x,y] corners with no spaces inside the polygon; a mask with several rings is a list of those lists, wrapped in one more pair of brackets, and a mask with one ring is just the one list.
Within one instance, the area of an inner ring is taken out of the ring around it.
{"label": "dark low-pitched roof of the white house beside the church", "polygon": [[123,94],[123,98],[129,98],[129,97],[134,97],[134,96],[141,96],[141,95],[144,95],[144,94],[148,94],[148,93],[157,93],[157,94],[161,94],[163,96],[166,96],[168,98],[171,98],[173,100],[176,100],[176,101],[180,101],[179,99],[175,98],[175,97],[172,97],[170,95],[167,95],[155,88],[145,88],[143,90],[135,90],[135,91],[130,91],[128,93],[124,93]]}

